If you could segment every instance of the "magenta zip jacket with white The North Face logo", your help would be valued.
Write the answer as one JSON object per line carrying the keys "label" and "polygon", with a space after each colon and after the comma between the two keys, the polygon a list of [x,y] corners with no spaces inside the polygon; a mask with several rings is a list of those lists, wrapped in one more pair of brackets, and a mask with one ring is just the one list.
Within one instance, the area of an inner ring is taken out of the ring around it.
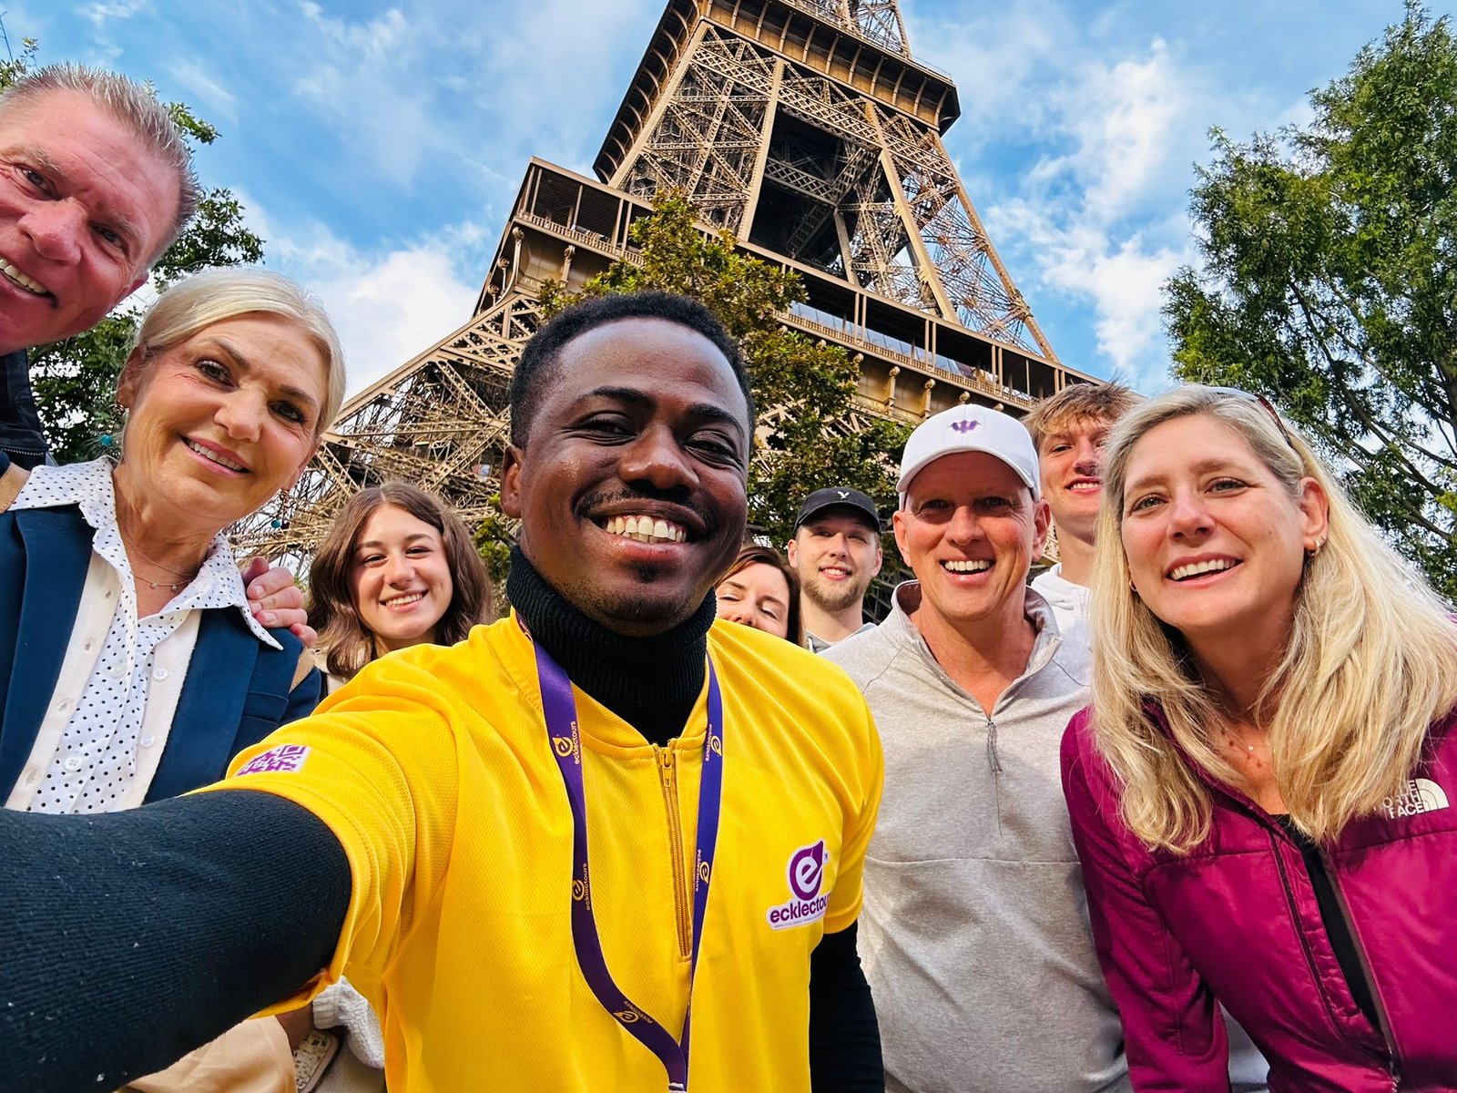
{"label": "magenta zip jacket with white The North Face logo", "polygon": [[[1158,720],[1155,713],[1151,716]],[[1119,819],[1090,710],[1062,737],[1062,787],[1093,939],[1123,1017],[1134,1089],[1227,1093],[1224,1003],[1271,1064],[1271,1093],[1457,1090],[1457,717],[1432,726],[1406,791],[1326,851],[1381,1016],[1356,1007],[1300,847],[1208,781],[1209,838],[1150,851]]]}

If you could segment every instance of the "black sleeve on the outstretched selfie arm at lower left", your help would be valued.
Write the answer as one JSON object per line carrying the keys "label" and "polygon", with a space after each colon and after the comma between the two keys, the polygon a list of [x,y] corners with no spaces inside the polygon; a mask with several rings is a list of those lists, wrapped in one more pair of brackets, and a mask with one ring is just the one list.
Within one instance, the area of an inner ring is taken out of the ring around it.
{"label": "black sleeve on the outstretched selfie arm at lower left", "polygon": [[0,810],[0,1093],[117,1089],[293,994],[350,885],[334,832],[271,793]]}

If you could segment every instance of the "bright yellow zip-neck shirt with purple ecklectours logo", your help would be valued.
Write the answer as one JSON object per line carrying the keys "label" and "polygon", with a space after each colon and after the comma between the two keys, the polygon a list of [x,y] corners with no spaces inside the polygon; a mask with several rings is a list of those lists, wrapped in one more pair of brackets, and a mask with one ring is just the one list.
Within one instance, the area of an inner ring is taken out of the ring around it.
{"label": "bright yellow zip-neck shirt with purple ecklectours logo", "polygon": [[[727,622],[708,649],[724,788],[689,1090],[807,1093],[810,950],[860,912],[880,742],[838,667]],[[602,949],[624,992],[678,1036],[707,685],[664,748],[576,698]],[[354,877],[329,969],[274,1011],[348,975],[380,1013],[393,1093],[667,1087],[577,966],[571,812],[514,616],[374,662],[232,775],[213,788],[267,790],[319,816]]]}

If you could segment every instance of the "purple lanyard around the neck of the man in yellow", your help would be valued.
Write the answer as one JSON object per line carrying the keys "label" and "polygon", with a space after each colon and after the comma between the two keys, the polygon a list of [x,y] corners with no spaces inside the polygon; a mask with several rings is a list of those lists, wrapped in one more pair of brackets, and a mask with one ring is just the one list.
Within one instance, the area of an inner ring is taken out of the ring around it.
{"label": "purple lanyard around the neck of the man in yellow", "polygon": [[[523,627],[525,630],[525,627]],[[529,637],[529,635],[527,635]],[[533,643],[535,644],[535,643]],[[592,914],[592,882],[587,869],[587,796],[581,781],[581,737],[577,732],[577,700],[571,681],[561,665],[541,646],[536,649],[536,675],[542,688],[542,711],[546,714],[546,734],[557,756],[561,780],[571,802],[571,943],[577,950],[577,965],[602,1007],[657,1055],[667,1071],[669,1093],[688,1090],[688,1030],[694,1006],[694,976],[698,973],[698,946],[704,939],[704,915],[708,912],[708,885],[712,879],[714,848],[718,844],[718,810],[723,800],[724,764],[723,730],[724,704],[718,692],[714,662],[708,662],[708,732],[704,734],[704,772],[698,790],[698,854],[694,866],[694,949],[688,966],[688,1011],[683,1016],[683,1041],[653,1020],[647,1010],[632,1003],[612,981],[597,921]]]}

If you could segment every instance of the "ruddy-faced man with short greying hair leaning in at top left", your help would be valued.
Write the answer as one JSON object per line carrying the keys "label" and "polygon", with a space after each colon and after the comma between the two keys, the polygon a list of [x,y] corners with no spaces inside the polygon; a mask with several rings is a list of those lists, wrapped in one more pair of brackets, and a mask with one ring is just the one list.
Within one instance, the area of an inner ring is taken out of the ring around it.
{"label": "ruddy-faced man with short greying hair leaning in at top left", "polygon": [[90,329],[197,211],[191,152],[144,86],[52,64],[0,95],[0,450],[47,459],[25,351]]}

